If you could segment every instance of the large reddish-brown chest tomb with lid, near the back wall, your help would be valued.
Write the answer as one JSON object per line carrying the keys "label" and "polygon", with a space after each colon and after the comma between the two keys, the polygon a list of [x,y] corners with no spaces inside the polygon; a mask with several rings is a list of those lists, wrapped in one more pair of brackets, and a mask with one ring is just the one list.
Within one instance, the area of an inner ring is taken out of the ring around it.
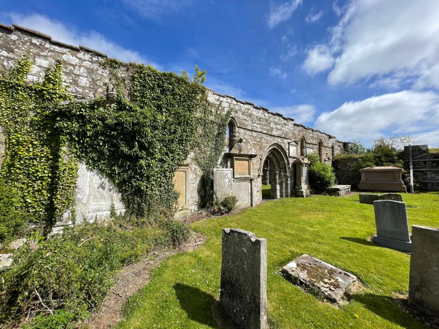
{"label": "large reddish-brown chest tomb with lid, near the back wall", "polygon": [[360,169],[359,190],[407,192],[402,181],[402,168],[367,167]]}

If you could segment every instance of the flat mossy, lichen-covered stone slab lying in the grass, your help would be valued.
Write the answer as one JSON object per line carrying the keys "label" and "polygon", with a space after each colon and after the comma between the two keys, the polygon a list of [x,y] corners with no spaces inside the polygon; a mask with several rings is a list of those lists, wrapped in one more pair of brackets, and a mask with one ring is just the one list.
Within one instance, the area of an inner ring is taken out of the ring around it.
{"label": "flat mossy, lichen-covered stone slab lying in the grass", "polygon": [[307,254],[285,265],[282,273],[291,282],[316,290],[334,302],[338,302],[346,288],[357,280],[356,276]]}

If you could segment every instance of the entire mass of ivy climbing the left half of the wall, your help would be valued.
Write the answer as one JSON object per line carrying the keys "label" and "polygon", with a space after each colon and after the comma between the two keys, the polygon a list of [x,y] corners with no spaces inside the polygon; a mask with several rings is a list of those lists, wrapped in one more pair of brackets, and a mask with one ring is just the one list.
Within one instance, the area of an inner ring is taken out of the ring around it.
{"label": "entire mass of ivy climbing the left half of the wall", "polygon": [[60,61],[42,83],[26,83],[31,65],[24,56],[0,79],[0,177],[20,192],[33,222],[50,228],[73,210],[79,159],[114,182],[129,215],[148,222],[173,215],[174,172],[192,149],[203,173],[216,167],[230,113],[208,101],[205,71],[196,67],[189,79],[108,59],[116,99],[75,102]]}

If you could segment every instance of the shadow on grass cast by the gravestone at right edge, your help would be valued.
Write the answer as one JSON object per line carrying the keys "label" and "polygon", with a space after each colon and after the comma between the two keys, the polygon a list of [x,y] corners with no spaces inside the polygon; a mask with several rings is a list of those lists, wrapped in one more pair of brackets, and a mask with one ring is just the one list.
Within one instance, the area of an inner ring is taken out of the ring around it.
{"label": "shadow on grass cast by the gravestone at right edge", "polygon": [[354,295],[352,301],[357,301],[364,305],[377,316],[395,323],[403,328],[422,328],[422,322],[418,321],[413,315],[405,313],[397,304],[397,300],[389,296],[374,294]]}

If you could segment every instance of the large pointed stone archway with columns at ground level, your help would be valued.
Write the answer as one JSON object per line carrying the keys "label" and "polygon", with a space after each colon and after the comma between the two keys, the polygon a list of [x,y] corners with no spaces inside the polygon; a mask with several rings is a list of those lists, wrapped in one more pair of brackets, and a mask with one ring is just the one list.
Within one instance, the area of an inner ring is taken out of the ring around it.
{"label": "large pointed stone archway with columns at ground level", "polygon": [[272,199],[289,196],[289,161],[287,153],[281,145],[275,143],[266,149],[262,155],[259,174],[259,176],[269,175],[268,181]]}

